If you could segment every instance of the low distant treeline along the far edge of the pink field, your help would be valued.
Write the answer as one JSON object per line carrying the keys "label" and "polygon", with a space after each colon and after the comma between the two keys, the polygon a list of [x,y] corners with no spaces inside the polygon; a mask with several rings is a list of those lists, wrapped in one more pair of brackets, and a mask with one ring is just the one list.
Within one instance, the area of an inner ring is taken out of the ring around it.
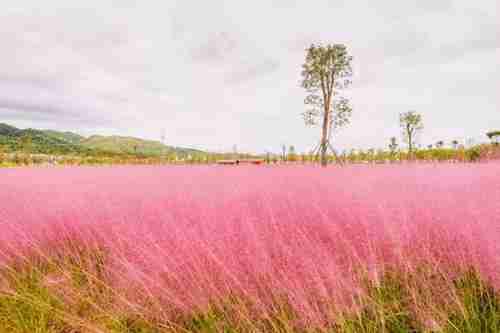
{"label": "low distant treeline along the far edge of the pink field", "polygon": [[[29,154],[24,152],[1,153],[0,167],[34,165],[176,165],[176,164],[215,164],[219,160],[261,158],[267,164],[318,163],[319,155],[289,153],[284,155],[217,154],[205,153],[179,157],[174,154],[148,156],[141,154],[117,154],[93,152],[92,154]],[[408,151],[382,149],[351,150],[337,155],[328,154],[328,163],[340,164],[384,164],[404,162],[480,162],[500,159],[500,146],[482,144],[470,148],[427,148]]]}

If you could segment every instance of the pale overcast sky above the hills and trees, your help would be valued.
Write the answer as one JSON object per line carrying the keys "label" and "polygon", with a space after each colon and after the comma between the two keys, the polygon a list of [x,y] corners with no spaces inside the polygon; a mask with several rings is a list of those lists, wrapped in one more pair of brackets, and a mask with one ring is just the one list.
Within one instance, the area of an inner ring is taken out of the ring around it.
{"label": "pale overcast sky above the hills and trees", "polygon": [[[78,3],[78,5],[76,5]],[[305,48],[354,57],[339,149],[500,129],[498,0],[16,0],[0,11],[0,122],[210,150],[310,150]]]}

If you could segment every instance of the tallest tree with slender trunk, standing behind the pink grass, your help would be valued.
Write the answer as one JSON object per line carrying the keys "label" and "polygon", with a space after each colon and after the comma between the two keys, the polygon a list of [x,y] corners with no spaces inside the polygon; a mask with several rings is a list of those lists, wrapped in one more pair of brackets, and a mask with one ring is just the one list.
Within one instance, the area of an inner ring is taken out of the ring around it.
{"label": "tallest tree with slender trunk, standing behind the pink grass", "polygon": [[321,165],[326,166],[332,128],[349,123],[352,109],[341,90],[351,84],[352,57],[342,44],[311,45],[302,65],[302,87],[307,91],[304,101],[310,107],[303,113],[306,125],[321,122],[319,151]]}

